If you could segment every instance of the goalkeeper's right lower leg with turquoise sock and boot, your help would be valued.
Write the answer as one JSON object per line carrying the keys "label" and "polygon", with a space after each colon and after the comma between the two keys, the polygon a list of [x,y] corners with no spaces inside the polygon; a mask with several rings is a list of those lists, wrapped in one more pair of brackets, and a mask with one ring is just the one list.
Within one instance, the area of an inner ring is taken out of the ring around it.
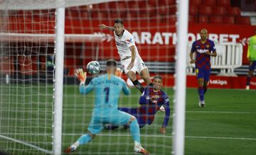
{"label": "goalkeeper's right lower leg with turquoise sock and boot", "polygon": [[137,119],[135,117],[131,118],[130,123],[130,132],[132,134],[132,138],[134,139],[134,151],[139,154],[149,154],[146,149],[142,147],[140,144],[140,132],[139,132],[139,124],[137,122]]}

